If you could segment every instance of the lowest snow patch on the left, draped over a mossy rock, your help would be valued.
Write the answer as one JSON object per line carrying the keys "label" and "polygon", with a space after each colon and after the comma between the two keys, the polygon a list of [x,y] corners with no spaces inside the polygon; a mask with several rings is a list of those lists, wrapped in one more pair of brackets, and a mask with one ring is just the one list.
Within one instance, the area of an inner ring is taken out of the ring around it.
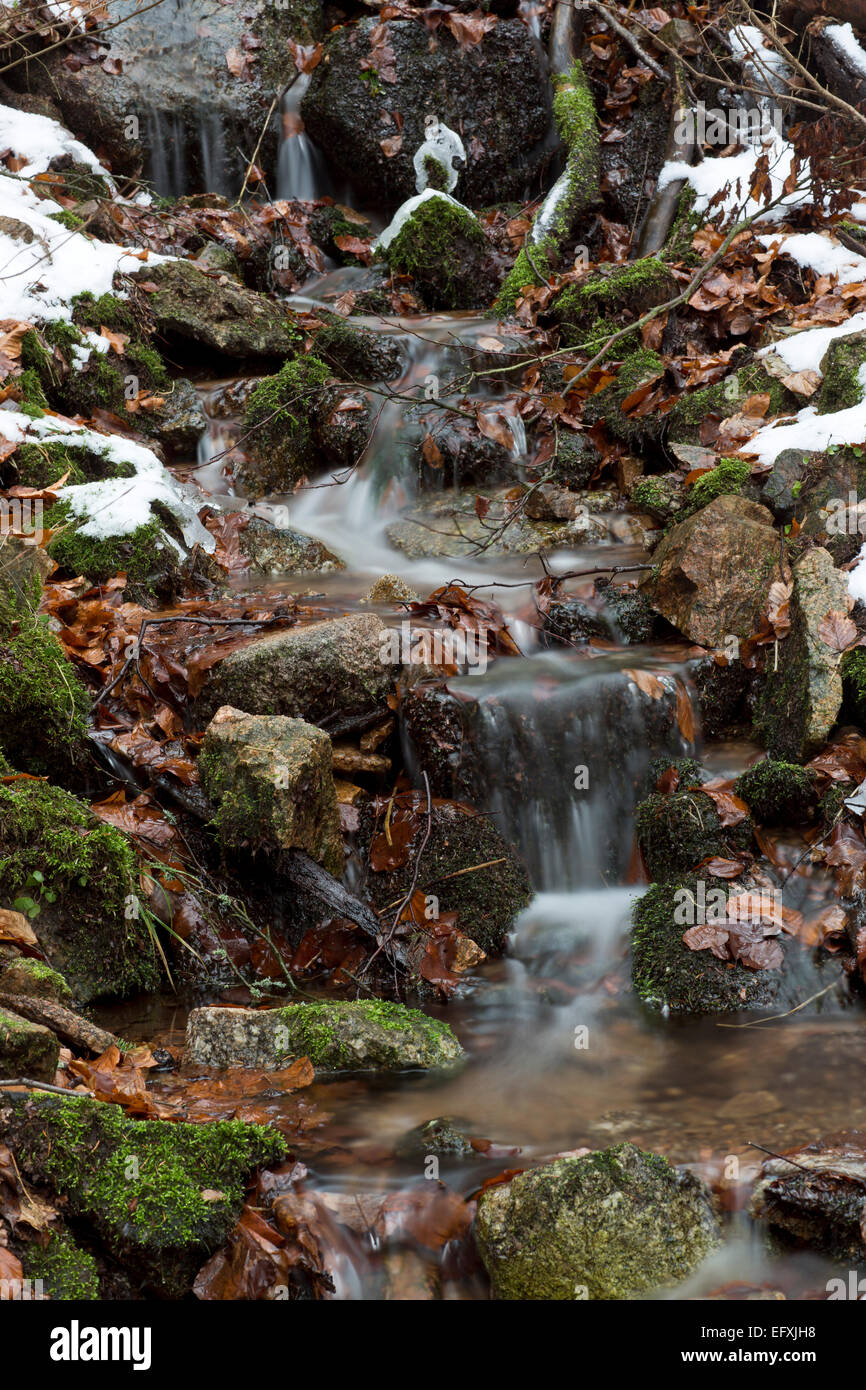
{"label": "lowest snow patch on the left, draped over a mossy rock", "polygon": [[[135,474],[129,478],[104,478],[101,482],[82,482],[57,489],[75,517],[82,517],[79,534],[93,541],[129,535],[154,520],[153,505],[161,503],[175,517],[188,546],[214,549],[214,538],[199,521],[189,500],[157,456],[135,439],[104,435],[85,425],[76,425],[56,416],[32,420],[17,410],[0,410],[0,438],[11,443],[39,439],[64,443],[70,448],[90,449],[111,463],[131,463]],[[171,537],[165,537],[171,541]]]}

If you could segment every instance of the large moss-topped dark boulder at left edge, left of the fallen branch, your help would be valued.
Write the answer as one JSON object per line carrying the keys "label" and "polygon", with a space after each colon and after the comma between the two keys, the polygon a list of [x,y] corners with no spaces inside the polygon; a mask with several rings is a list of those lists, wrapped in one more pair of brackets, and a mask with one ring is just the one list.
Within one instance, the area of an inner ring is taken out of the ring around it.
{"label": "large moss-topped dark boulder at left edge, left of the fallen branch", "polygon": [[129,842],[85,802],[42,781],[0,783],[0,901],[28,901],[44,955],[83,1001],[157,983],[136,887]]}

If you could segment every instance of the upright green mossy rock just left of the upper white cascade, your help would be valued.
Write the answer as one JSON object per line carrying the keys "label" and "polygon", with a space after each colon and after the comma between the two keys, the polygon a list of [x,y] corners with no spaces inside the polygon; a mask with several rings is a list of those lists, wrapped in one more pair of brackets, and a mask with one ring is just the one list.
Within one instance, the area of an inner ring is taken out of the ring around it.
{"label": "upright green mossy rock just left of the upper white cascade", "polygon": [[317,471],[316,420],[331,375],[318,357],[297,357],[250,392],[240,425],[249,461],[239,477],[254,496],[291,492]]}

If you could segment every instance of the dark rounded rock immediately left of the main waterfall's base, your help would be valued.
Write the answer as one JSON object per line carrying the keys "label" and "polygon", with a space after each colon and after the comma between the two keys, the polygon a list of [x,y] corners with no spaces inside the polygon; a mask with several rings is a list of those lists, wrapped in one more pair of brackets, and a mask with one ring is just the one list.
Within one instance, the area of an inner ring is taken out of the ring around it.
{"label": "dark rounded rock immediately left of the main waterfall's base", "polygon": [[[361,819],[360,848],[367,858],[374,816]],[[374,908],[399,902],[409,892],[416,853],[427,833],[427,815],[420,812],[409,847],[409,860],[393,870],[370,869],[366,891]],[[466,873],[471,869],[471,873]],[[527,870],[513,845],[491,821],[457,802],[432,808],[430,837],[417,877],[417,887],[434,894],[439,915],[456,912],[457,927],[487,955],[505,949],[514,920],[530,902]]]}

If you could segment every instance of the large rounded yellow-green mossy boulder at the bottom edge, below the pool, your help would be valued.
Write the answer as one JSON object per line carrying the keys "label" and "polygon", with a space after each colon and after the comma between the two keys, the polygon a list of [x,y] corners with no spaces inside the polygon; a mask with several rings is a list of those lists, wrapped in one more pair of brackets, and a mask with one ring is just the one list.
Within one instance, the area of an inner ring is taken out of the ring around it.
{"label": "large rounded yellow-green mossy boulder at the bottom edge, below the pool", "polygon": [[720,1243],[709,1188],[634,1144],[488,1187],[475,1237],[495,1298],[638,1298],[688,1279]]}

